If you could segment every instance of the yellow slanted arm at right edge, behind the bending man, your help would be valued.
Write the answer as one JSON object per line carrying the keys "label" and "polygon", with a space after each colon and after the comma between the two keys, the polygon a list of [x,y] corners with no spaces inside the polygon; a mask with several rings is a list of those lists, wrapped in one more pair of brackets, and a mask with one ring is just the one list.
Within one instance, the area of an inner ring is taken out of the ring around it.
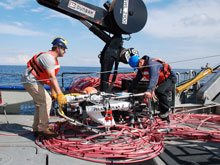
{"label": "yellow slanted arm at right edge, behind the bending man", "polygon": [[181,93],[184,90],[186,90],[188,87],[190,87],[191,85],[195,84],[196,82],[198,82],[199,80],[203,79],[204,77],[210,75],[211,73],[213,73],[216,69],[218,69],[220,66],[217,65],[216,67],[214,67],[213,69],[211,67],[207,67],[205,70],[201,71],[195,78],[193,78],[192,80],[176,87],[176,93]]}

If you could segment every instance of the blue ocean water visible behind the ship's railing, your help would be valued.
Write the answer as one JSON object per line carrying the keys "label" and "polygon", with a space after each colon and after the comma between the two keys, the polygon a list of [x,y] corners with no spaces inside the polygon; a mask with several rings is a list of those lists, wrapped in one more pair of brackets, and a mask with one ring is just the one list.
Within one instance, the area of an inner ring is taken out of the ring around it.
{"label": "blue ocean water visible behind the ship's railing", "polygon": [[[26,66],[16,66],[16,65],[0,65],[0,87],[22,87],[21,84],[21,75],[23,74]],[[173,69],[175,72],[187,72],[189,69]],[[119,72],[132,72],[131,68],[120,68],[118,69]],[[199,70],[195,70],[199,72]],[[76,66],[61,66],[60,71],[57,75],[57,79],[59,81],[60,86],[62,83],[65,87],[68,87],[72,78],[73,74],[64,74],[62,73],[72,73],[72,72],[79,72],[79,73],[100,73],[100,67],[76,67]],[[92,76],[97,76],[97,74],[91,74]],[[209,78],[209,77],[208,77]],[[205,83],[208,78],[202,80]]]}

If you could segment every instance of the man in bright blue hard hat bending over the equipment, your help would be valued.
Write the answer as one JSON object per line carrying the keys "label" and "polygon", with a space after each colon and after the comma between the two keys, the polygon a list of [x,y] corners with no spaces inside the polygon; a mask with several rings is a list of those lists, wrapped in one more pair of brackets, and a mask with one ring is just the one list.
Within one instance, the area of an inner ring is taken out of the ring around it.
{"label": "man in bright blue hard hat bending over the equipment", "polygon": [[176,83],[176,75],[171,70],[171,66],[160,59],[154,59],[148,56],[139,58],[138,55],[131,56],[128,63],[132,68],[138,69],[137,75],[129,86],[128,91],[133,92],[138,82],[145,77],[149,80],[145,99],[151,99],[154,91],[159,99],[159,117],[162,120],[169,121],[169,92],[174,89]]}

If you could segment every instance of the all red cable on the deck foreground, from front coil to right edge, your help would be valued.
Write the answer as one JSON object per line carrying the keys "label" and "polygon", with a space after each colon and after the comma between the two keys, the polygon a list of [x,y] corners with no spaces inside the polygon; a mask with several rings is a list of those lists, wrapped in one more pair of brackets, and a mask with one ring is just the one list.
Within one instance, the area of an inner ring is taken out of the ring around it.
{"label": "all red cable on the deck foreground, from front coil to right edge", "polygon": [[[208,114],[174,113],[170,115],[171,123],[154,117],[150,124],[148,118],[142,118],[143,129],[138,125],[116,125],[110,131],[91,135],[82,128],[67,124],[65,131],[74,134],[65,135],[63,131],[58,138],[36,140],[36,143],[52,152],[100,163],[137,163],[158,156],[164,150],[164,136],[173,135],[187,139],[220,142],[220,116]],[[100,129],[104,126],[99,126]],[[55,130],[60,126],[55,125]],[[160,132],[161,129],[172,129]],[[80,138],[80,137],[83,137]],[[105,160],[112,158],[111,161]],[[120,159],[116,160],[114,158]]]}

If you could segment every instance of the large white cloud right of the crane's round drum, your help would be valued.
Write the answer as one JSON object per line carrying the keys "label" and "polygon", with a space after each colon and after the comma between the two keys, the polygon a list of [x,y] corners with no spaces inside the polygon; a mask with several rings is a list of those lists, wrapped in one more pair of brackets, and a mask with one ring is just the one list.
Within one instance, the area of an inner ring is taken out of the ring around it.
{"label": "large white cloud right of the crane's round drum", "polygon": [[220,1],[177,0],[149,11],[144,31],[159,38],[220,39]]}

